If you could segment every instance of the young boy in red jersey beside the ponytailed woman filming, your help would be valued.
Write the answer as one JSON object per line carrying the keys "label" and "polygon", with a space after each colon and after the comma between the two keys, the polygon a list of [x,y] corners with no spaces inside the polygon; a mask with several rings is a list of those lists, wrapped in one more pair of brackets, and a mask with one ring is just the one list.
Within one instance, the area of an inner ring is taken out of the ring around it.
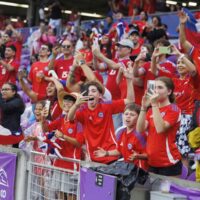
{"label": "young boy in red jersey beside the ponytailed woman filming", "polygon": [[99,147],[94,152],[96,157],[122,156],[125,162],[133,162],[138,167],[147,170],[147,156],[145,153],[146,133],[136,131],[136,123],[140,108],[135,104],[128,104],[124,110],[125,126],[117,134],[117,148],[106,151]]}

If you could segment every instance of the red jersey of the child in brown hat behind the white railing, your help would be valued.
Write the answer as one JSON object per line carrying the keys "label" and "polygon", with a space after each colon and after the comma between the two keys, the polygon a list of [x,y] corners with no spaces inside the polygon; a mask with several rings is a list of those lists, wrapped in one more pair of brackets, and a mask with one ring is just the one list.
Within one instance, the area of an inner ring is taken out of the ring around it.
{"label": "red jersey of the child in brown hat behind the white railing", "polygon": [[[59,130],[64,135],[70,136],[75,138],[78,134],[81,134],[82,126],[80,123],[76,122],[69,122],[68,120],[65,120],[65,117],[59,118],[53,122],[51,122],[48,125],[49,131]],[[62,141],[60,139],[56,139],[56,143],[60,145],[62,148],[60,150],[60,154],[63,157],[73,158],[73,159],[80,159],[81,158],[81,148],[75,147],[71,143],[67,141]],[[54,166],[66,168],[66,169],[72,169],[72,170],[78,170],[79,166],[78,164],[74,162],[67,162],[64,160],[57,159],[54,163]]]}

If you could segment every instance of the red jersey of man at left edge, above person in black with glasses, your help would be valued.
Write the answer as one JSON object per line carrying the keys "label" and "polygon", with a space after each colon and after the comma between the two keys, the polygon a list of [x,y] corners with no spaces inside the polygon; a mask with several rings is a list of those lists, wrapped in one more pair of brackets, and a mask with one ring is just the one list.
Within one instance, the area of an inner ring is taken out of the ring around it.
{"label": "red jersey of man at left edge, above person in black with glasses", "polygon": [[2,87],[2,85],[6,82],[11,82],[16,84],[16,78],[17,78],[17,71],[19,68],[19,61],[17,60],[4,60],[4,62],[12,65],[12,67],[14,68],[13,71],[8,71],[3,65],[0,65],[0,88]]}

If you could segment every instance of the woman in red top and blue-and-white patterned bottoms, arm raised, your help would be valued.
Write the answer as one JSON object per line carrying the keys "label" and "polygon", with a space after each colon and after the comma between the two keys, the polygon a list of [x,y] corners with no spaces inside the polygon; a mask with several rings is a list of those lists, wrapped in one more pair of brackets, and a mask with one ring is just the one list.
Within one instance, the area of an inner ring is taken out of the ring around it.
{"label": "woman in red top and blue-and-white patterned bottoms, arm raised", "polygon": [[172,78],[175,90],[176,103],[181,109],[181,123],[177,132],[177,146],[183,157],[182,161],[188,165],[187,155],[190,147],[187,139],[187,132],[191,128],[192,113],[194,111],[195,92],[199,86],[199,76],[196,73],[195,65],[175,46],[172,46],[173,53],[178,56],[177,71],[178,78]]}

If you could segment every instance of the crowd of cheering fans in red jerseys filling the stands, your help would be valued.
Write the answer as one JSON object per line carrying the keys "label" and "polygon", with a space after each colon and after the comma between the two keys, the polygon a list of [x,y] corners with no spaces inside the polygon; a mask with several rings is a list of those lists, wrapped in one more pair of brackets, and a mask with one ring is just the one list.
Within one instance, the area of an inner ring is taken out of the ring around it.
{"label": "crowd of cheering fans in red jerseys filling the stands", "polygon": [[[59,17],[41,21],[29,38],[30,70],[20,68],[23,38],[8,24],[0,38],[1,125],[11,132],[8,143],[26,151],[45,151],[40,146],[53,132],[59,156],[104,164],[122,157],[178,177],[182,164],[190,167],[187,133],[200,92],[200,53],[185,36],[188,17],[179,11],[177,47],[159,17],[149,23],[143,10],[126,24],[118,14],[101,29],[69,21],[62,30]],[[18,82],[31,103],[18,95]],[[78,169],[59,159],[52,165]]]}

